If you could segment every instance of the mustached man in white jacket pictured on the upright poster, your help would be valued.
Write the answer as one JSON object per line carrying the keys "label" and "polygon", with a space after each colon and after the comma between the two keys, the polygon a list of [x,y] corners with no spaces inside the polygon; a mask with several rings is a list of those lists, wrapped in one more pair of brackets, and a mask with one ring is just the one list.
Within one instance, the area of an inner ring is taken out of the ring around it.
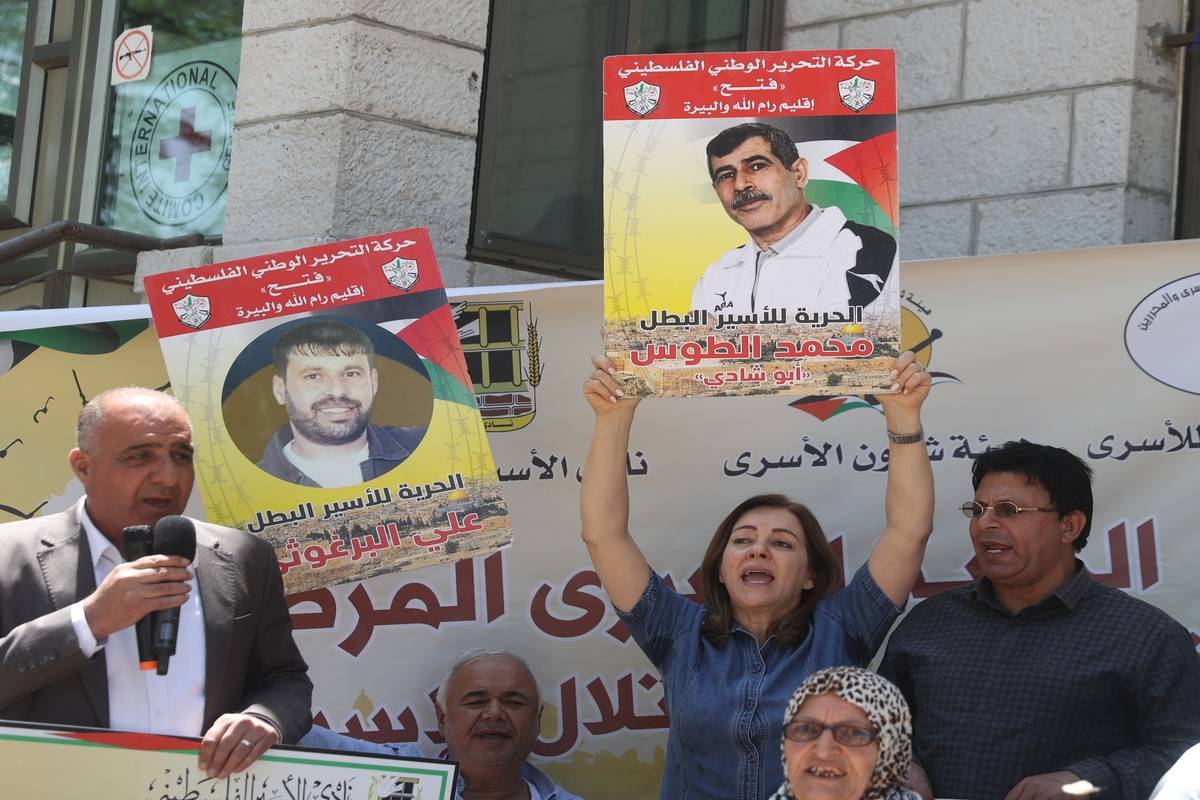
{"label": "mustached man in white jacket pictured on the upright poster", "polygon": [[799,321],[791,317],[798,308],[851,314],[883,295],[899,314],[895,239],[809,203],[808,161],[791,136],[744,122],[713,137],[707,155],[713,190],[750,241],[704,271],[692,308],[740,315],[781,307]]}

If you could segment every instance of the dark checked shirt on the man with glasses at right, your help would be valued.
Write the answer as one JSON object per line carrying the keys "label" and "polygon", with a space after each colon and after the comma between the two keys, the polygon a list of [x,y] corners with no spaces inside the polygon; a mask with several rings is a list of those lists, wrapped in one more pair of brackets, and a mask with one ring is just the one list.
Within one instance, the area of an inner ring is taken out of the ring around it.
{"label": "dark checked shirt on the man with glasses at right", "polygon": [[913,753],[938,798],[1003,798],[1069,770],[1142,800],[1200,741],[1200,656],[1182,625],[1092,579],[1082,563],[1012,614],[991,583],[930,597],[880,673],[908,698]]}

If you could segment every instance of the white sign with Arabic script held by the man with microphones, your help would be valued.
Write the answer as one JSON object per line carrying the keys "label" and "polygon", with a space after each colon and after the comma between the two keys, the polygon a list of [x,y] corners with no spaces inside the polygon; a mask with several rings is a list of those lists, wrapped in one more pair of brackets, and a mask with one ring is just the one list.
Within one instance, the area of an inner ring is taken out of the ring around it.
{"label": "white sign with Arabic script held by the man with microphones", "polygon": [[0,770],[7,796],[42,800],[450,800],[458,777],[454,762],[271,747],[245,771],[217,780],[198,769],[199,744],[182,736],[5,722]]}

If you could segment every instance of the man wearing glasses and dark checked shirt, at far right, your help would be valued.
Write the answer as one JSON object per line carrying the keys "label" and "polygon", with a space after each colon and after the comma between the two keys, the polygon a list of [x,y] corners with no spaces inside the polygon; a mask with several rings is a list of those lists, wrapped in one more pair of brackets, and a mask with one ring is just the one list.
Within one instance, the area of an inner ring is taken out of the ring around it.
{"label": "man wearing glasses and dark checked shirt, at far right", "polygon": [[[1075,558],[1091,470],[1009,441],[972,469],[974,583],[917,606],[880,672],[913,715],[913,772],[938,798],[1066,798],[1088,781],[1136,800],[1200,741],[1200,656],[1162,610]],[[924,794],[924,792],[923,792]]]}

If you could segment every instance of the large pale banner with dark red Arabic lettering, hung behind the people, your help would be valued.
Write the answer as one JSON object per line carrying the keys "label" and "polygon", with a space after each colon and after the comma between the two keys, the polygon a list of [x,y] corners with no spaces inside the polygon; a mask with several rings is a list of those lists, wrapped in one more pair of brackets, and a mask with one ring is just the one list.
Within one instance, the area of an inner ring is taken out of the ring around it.
{"label": "large pale banner with dark red Arabic lettering, hung behind the people", "polygon": [[[920,359],[936,383],[924,422],[937,516],[916,601],[971,578],[958,511],[972,497],[971,463],[991,443],[1025,437],[1068,447],[1096,471],[1088,567],[1200,638],[1198,263],[1200,243],[1181,241],[905,265],[904,344],[929,342]],[[431,692],[446,666],[468,648],[509,648],[529,660],[546,703],[534,762],[589,800],[656,796],[662,690],[578,539],[577,474],[592,428],[580,386],[601,345],[602,288],[448,294],[472,342],[476,397],[497,410],[488,438],[521,535],[486,558],[293,594],[313,710],[337,730],[436,756]],[[41,314],[65,325],[88,311]],[[8,318],[0,314],[0,329]],[[130,353],[106,365],[109,380],[142,381],[152,369],[139,359],[162,369],[152,351]],[[5,381],[0,374],[5,421],[37,410],[11,401]],[[48,453],[48,473],[52,463],[58,473],[38,477],[59,492],[65,451]],[[859,396],[647,399],[628,459],[631,530],[652,565],[690,593],[716,521],[750,494],[785,492],[812,507],[850,573],[881,529],[886,470],[883,420]],[[28,489],[32,505],[50,491]]]}

